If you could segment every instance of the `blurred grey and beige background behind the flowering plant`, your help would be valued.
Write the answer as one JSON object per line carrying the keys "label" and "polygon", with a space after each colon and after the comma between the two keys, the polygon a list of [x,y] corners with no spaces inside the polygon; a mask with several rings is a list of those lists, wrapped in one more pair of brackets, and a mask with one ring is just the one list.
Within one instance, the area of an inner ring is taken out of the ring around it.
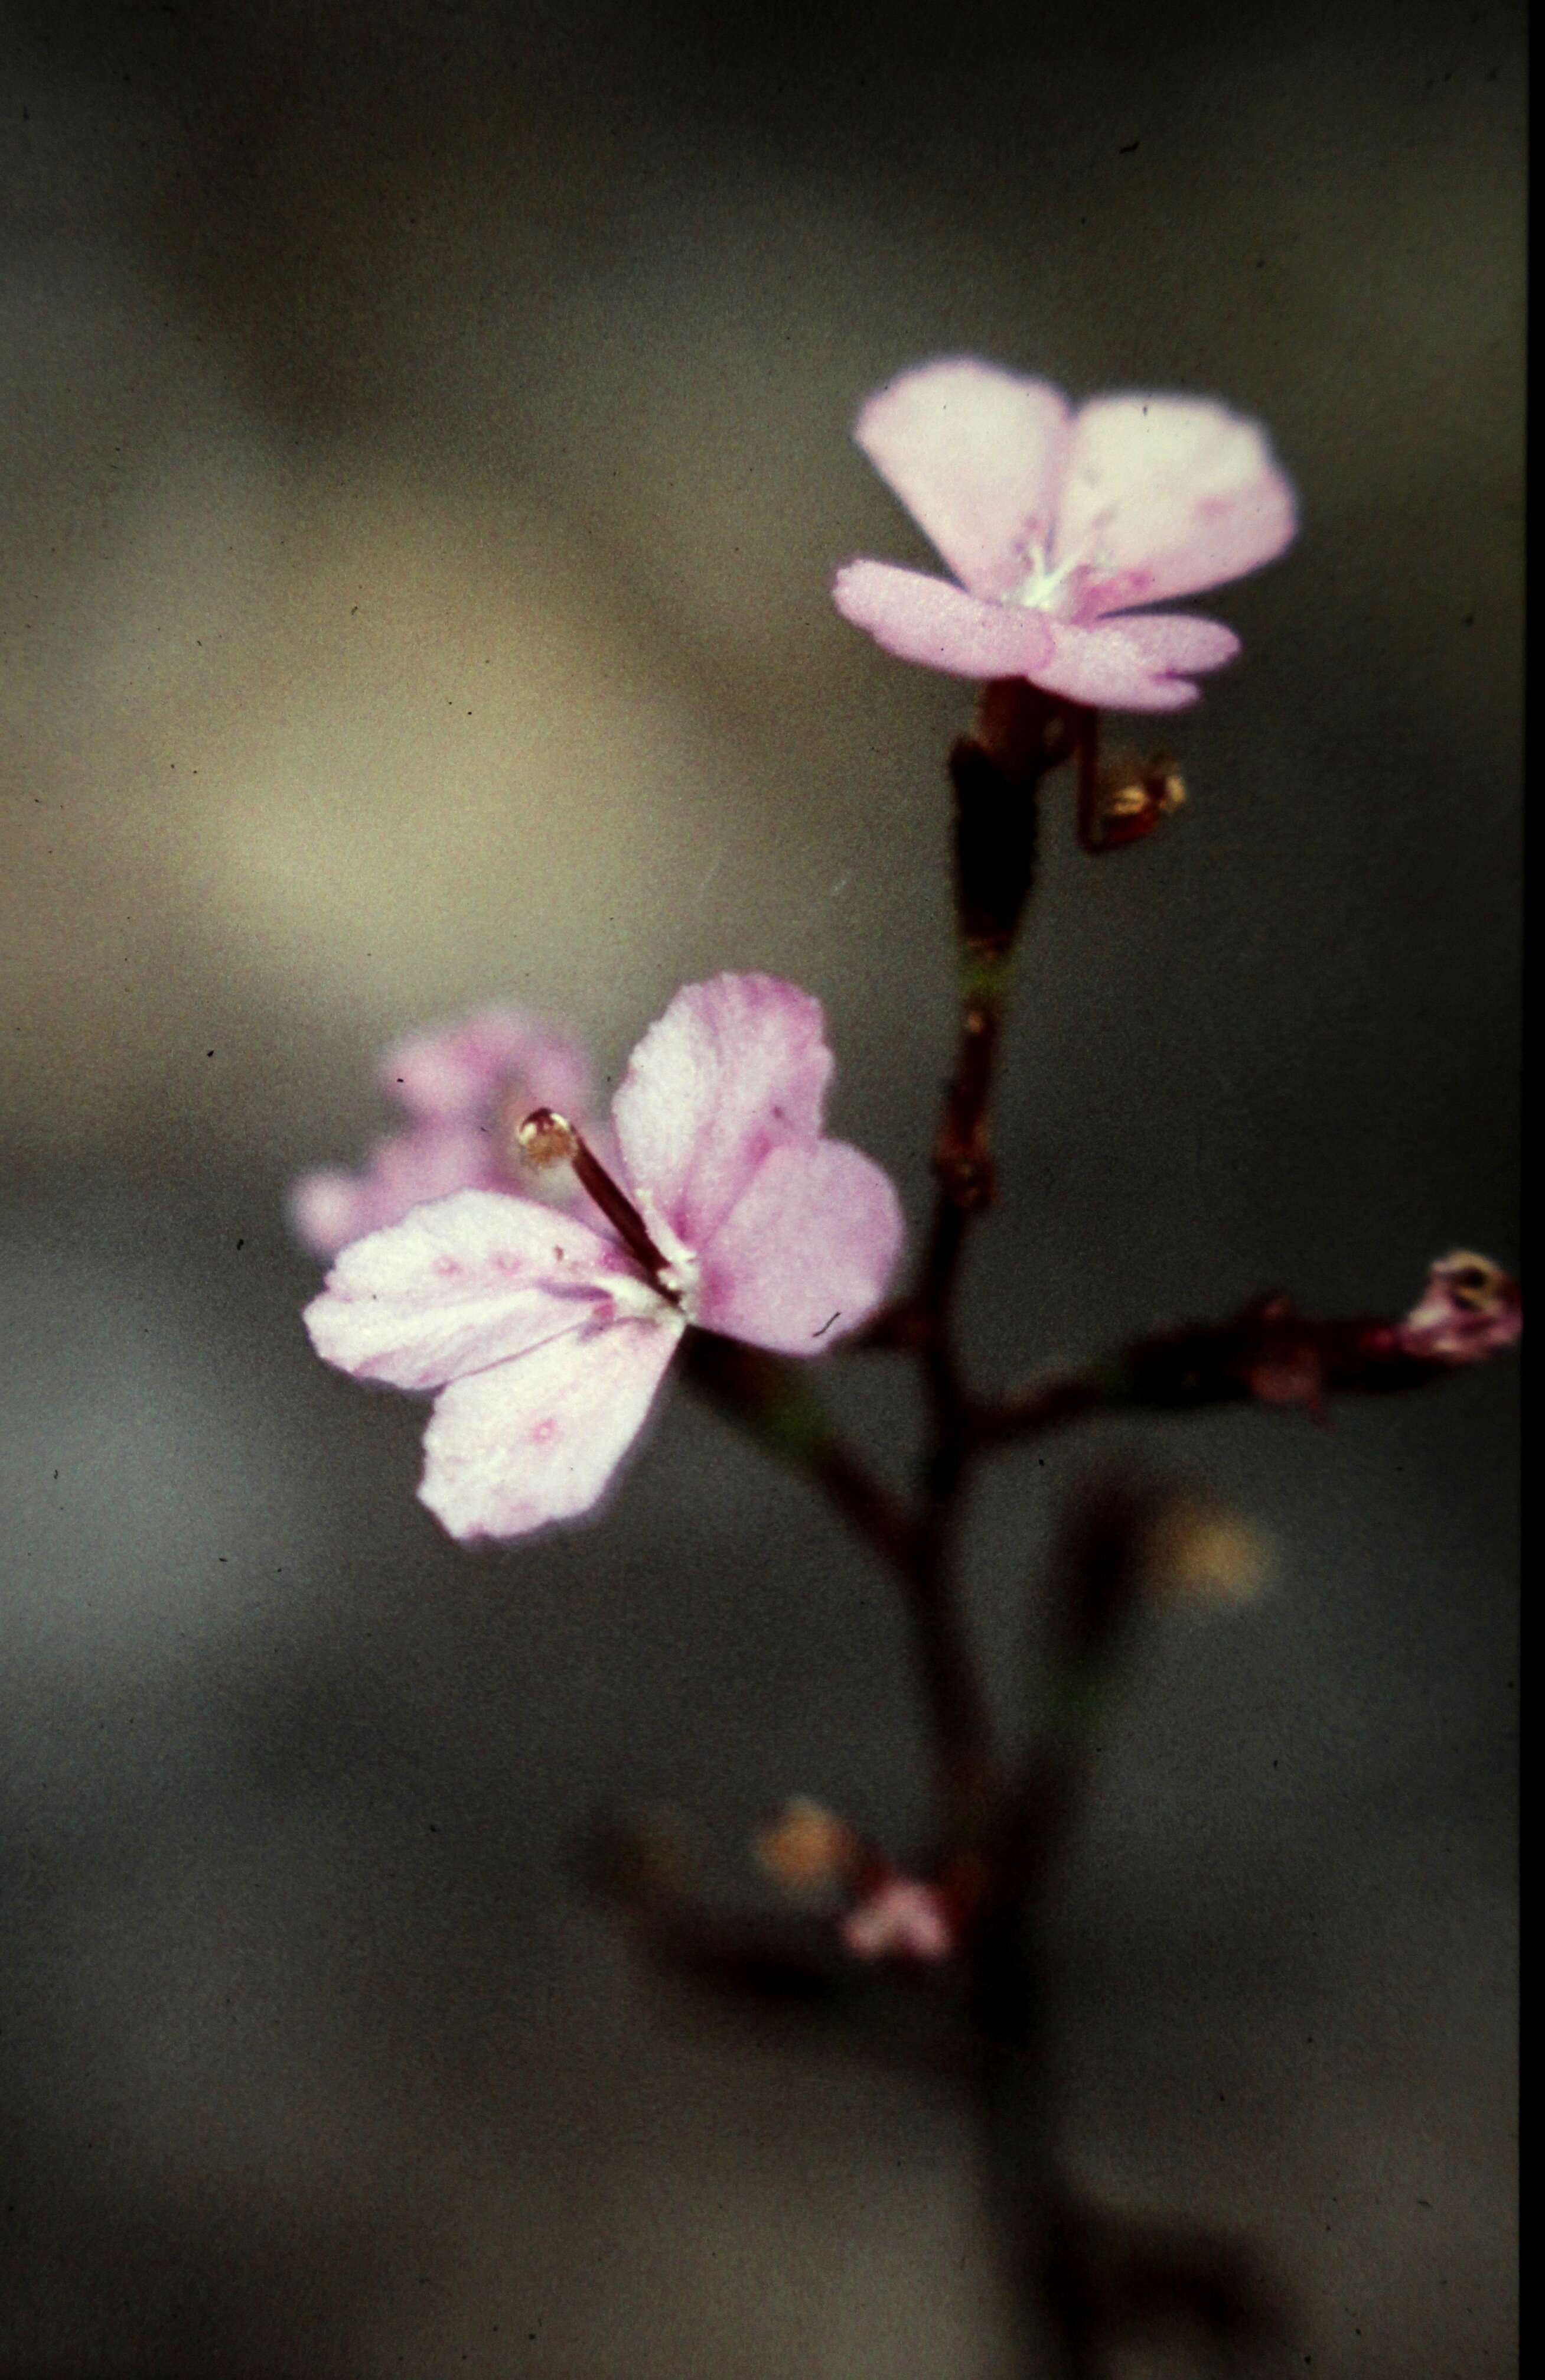
{"label": "blurred grey and beige background behind the flowering plant", "polygon": [[[976,350],[1224,395],[1305,512],[1176,826],[1095,869],[1052,804],[983,1373],[1512,1264],[1521,10],[2,24],[0,2370],[1002,2375],[950,2094],[702,2025],[567,1871],[652,1797],[743,1892],[788,1792],[905,1844],[886,1580],[681,1395],[600,1526],[457,1552],[283,1188],[407,1023],[526,1000],[614,1076],[767,966],[921,1219],[969,695],[826,578],[924,552],[857,402]],[[1278,1573],[1112,1728],[1076,2171],[1255,2230],[1316,2380],[1505,2373],[1509,1366],[1097,1435]],[[976,1516],[1009,1723],[1093,1438]]]}

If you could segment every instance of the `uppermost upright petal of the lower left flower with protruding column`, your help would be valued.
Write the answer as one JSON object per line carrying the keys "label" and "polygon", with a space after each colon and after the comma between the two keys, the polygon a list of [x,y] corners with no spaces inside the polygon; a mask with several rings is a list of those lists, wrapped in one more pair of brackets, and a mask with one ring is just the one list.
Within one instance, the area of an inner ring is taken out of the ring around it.
{"label": "uppermost upright petal of the lower left flower with protruding column", "polygon": [[628,1059],[612,1123],[645,1221],[702,1250],[769,1150],[821,1130],[821,1002],[776,976],[676,992]]}

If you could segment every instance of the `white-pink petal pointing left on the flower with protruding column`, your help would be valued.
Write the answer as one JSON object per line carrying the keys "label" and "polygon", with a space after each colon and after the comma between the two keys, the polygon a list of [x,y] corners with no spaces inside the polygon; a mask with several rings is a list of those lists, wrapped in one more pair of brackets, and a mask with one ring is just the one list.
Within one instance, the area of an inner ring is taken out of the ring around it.
{"label": "white-pink petal pointing left on the flower with protruding column", "polygon": [[576,1216],[459,1190],[345,1247],[305,1323],[359,1380],[440,1388],[609,1316],[619,1271],[636,1292],[617,1242]]}

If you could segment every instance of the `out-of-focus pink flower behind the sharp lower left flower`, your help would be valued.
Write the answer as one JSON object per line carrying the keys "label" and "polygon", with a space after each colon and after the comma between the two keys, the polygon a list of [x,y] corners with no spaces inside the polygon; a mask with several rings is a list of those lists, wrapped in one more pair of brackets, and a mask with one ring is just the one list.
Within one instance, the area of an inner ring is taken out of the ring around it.
{"label": "out-of-focus pink flower behind the sharp lower left flower", "polygon": [[414,1033],[381,1059],[388,1100],[409,1126],[367,1152],[357,1173],[326,1166],[290,1190],[290,1223],[314,1257],[383,1230],[452,1190],[531,1190],[514,1128],[533,1107],[586,1114],[588,1061],[578,1042],[521,1009],[478,1009]]}

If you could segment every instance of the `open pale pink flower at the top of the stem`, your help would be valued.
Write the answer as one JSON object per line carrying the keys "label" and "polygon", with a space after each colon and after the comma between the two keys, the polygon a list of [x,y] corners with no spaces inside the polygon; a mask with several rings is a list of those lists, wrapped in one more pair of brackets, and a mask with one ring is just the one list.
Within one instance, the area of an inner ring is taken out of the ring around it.
{"label": "open pale pink flower at the top of the stem", "polygon": [[1028,678],[1069,702],[1174,712],[1231,628],[1131,605],[1195,595],[1271,562],[1293,488],[1264,431],[1205,397],[1093,397],[974,357],[902,371],[857,443],[959,585],[850,562],[833,600],[886,652],[959,678]]}

